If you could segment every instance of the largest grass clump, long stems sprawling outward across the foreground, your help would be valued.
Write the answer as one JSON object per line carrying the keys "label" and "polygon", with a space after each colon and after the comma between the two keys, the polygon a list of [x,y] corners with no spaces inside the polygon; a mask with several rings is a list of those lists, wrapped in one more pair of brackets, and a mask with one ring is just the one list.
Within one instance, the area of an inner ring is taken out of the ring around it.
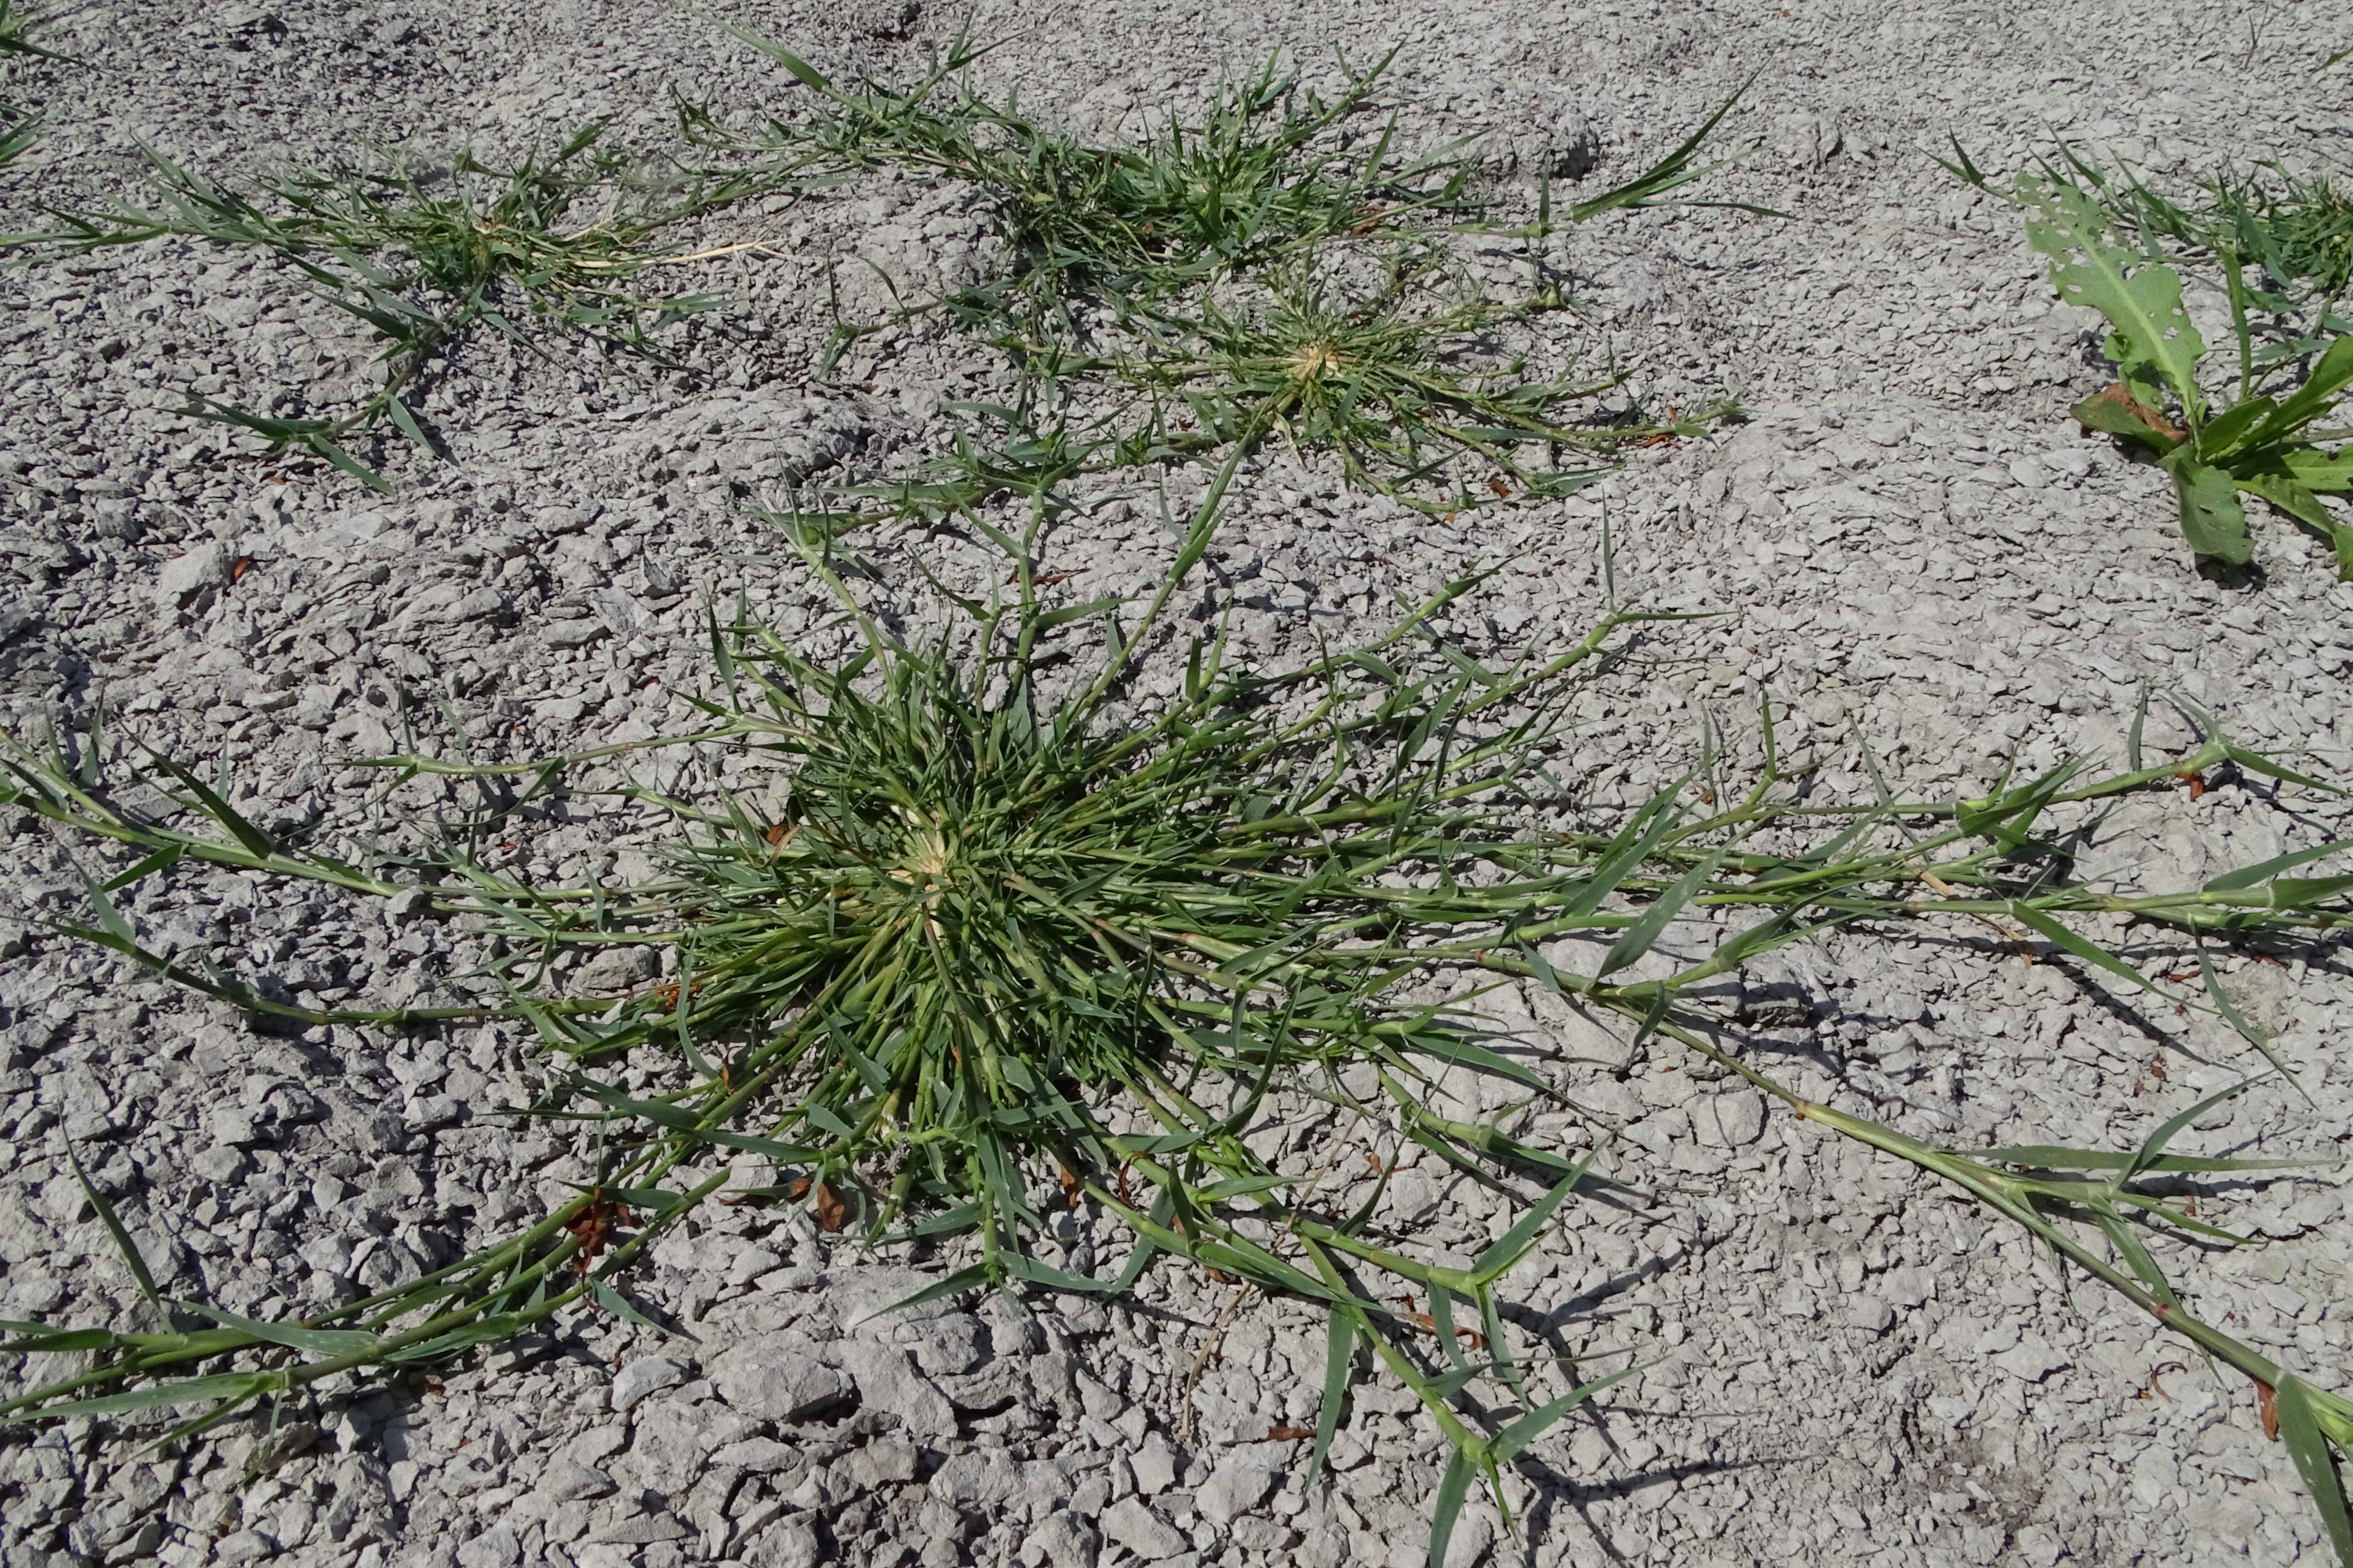
{"label": "largest grass clump, long stems sprawling outward across the foreground", "polygon": [[[854,628],[845,661],[812,663],[739,618],[713,625],[715,686],[699,731],[527,764],[388,762],[473,778],[506,811],[515,778],[525,795],[562,778],[586,790],[576,776],[591,764],[628,766],[654,748],[753,764],[765,783],[732,792],[689,797],[626,776],[609,785],[675,823],[666,867],[635,886],[536,886],[471,858],[461,837],[424,860],[336,858],[268,837],[184,764],[115,778],[104,733],[73,750],[64,736],[7,743],[0,804],[68,839],[139,853],[89,877],[94,917],[66,931],[296,1023],[527,1020],[555,1065],[532,1112],[588,1121],[600,1168],[536,1225],[294,1324],[167,1302],[125,1244],[160,1321],[139,1333],[14,1324],[12,1354],[89,1361],[0,1403],[0,1418],[193,1406],[172,1434],[184,1436],[339,1373],[459,1356],[569,1312],[654,1324],[659,1309],[628,1291],[631,1265],[722,1192],[729,1161],[753,1159],[779,1175],[732,1192],[736,1201],[809,1204],[826,1229],[856,1225],[873,1246],[962,1248],[967,1265],[913,1300],[976,1288],[1120,1298],[1155,1258],[1176,1258],[1313,1302],[1329,1321],[1329,1359],[1311,1462],[1322,1462],[1369,1349],[1452,1446],[1433,1514],[1438,1563],[1473,1483],[1504,1502],[1504,1467],[1638,1371],[1588,1378],[1515,1354],[1499,1314],[1513,1267],[1572,1222],[1591,1161],[1515,1135],[1522,1112],[1560,1103],[1546,1046],[1494,1027],[1475,997],[1532,983],[1680,1041],[1814,1126],[1967,1190],[2042,1237],[2061,1267],[2257,1378],[2353,1561],[2332,1460],[2353,1443],[2353,1403],[2198,1319],[2158,1262],[2162,1229],[2235,1241],[2146,1185],[2252,1168],[2167,1152],[2205,1107],[2129,1152],[1934,1150],[1798,1098],[1722,1044],[1727,1020],[1697,990],[1831,926],[1995,924],[2005,943],[2158,990],[2271,1053],[2205,945],[2344,931],[2353,877],[2294,872],[2346,844],[2134,896],[2068,879],[2066,823],[2202,769],[2325,785],[2212,731],[2191,755],[2132,757],[2122,773],[2068,764],[1979,799],[1817,804],[1802,778],[1784,776],[1767,712],[1765,766],[1746,792],[1708,762],[1595,823],[1546,769],[1567,736],[1565,703],[1631,639],[1671,635],[1675,616],[1619,607],[1567,646],[1492,665],[1433,630],[1466,583],[1386,637],[1287,675],[1235,668],[1205,632],[1181,646],[1179,689],[1139,710],[1127,693],[1144,663],[1179,656],[1167,609],[1209,543],[1231,473],[1136,614],[1054,604],[1040,590],[1033,559],[1059,515],[1049,487],[1031,496],[1019,534],[955,512],[969,541],[1002,552],[1012,581],[991,599],[948,595],[948,630],[922,642],[861,604],[833,567],[831,531],[786,517]],[[508,943],[504,997],[431,1013],[318,1011],[151,952],[113,893],[205,865],[421,896],[473,917]],[[2099,912],[2193,940],[2207,994],[2177,994],[2097,945],[2080,917]],[[1699,961],[1628,978],[1678,922],[1734,929]],[[1572,971],[1560,938],[1607,947],[1588,973]],[[551,959],[614,945],[666,952],[666,983],[567,997],[548,980]],[[666,1084],[631,1091],[600,1074],[647,1048],[671,1063]],[[1452,1093],[1461,1074],[1501,1079],[1525,1103],[1464,1119]],[[1409,1138],[1511,1194],[1518,1220],[1466,1267],[1431,1262],[1384,1220],[1386,1175],[1327,1190],[1329,1157],[1301,1168],[1257,1152],[1266,1140],[1254,1133],[1301,1114]],[[92,1201],[120,1237],[106,1199]],[[1087,1274],[1056,1253],[1054,1206],[1125,1229],[1125,1267]],[[1400,1281],[1426,1314],[1391,1305]]]}

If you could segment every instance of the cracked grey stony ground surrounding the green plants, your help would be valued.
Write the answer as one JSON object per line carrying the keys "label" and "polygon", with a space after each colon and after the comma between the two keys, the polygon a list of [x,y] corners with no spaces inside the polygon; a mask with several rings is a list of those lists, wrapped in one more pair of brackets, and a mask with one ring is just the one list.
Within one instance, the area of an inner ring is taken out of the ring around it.
{"label": "cracked grey stony ground surrounding the green plants", "polygon": [[[718,9],[826,68],[906,68],[965,21],[896,0]],[[2052,303],[2014,214],[1929,153],[1960,134],[1995,169],[2052,136],[2158,174],[2257,150],[2341,160],[2353,89],[2315,66],[2353,40],[2353,9],[1104,0],[1009,21],[1033,26],[988,80],[1099,134],[1275,45],[1318,61],[1395,42],[1409,129],[1497,129],[1527,160],[1598,158],[1595,179],[1638,169],[1755,73],[1725,125],[1753,150],[1715,190],[1788,221],[1680,209],[1572,237],[1595,362],[1659,402],[1737,393],[1755,418],[1565,503],[1454,524],[1268,461],[1214,555],[1264,656],[1497,562],[1457,630],[1584,625],[1607,515],[1621,590],[1725,614],[1581,698],[1602,799],[1680,771],[1701,715],[1753,757],[1760,693],[1786,705],[1784,743],[1857,795],[1857,733],[1901,788],[1944,792],[2012,752],[2120,752],[2144,684],[2346,771],[2353,590],[2278,520],[2254,524],[2261,571],[2191,567],[2160,477],[2064,418],[2104,378],[2092,320]],[[666,7],[96,0],[54,7],[38,38],[87,63],[9,66],[9,92],[52,125],[0,174],[5,228],[38,226],[42,200],[122,190],[136,141],[254,169],[369,139],[515,148],[593,115],[659,141],[671,92],[784,101],[772,66]],[[939,404],[995,376],[920,329],[809,376],[826,266],[866,256],[936,287],[979,261],[967,197],[875,179],[727,223],[769,244],[696,277],[736,306],[680,339],[694,374],[485,341],[428,400],[452,461],[388,454],[391,498],[240,456],[176,414],[191,390],[369,374],[367,343],[282,273],[181,242],[0,273],[12,729],[85,717],[104,693],[122,733],[226,764],[256,816],[355,823],[374,776],[353,759],[412,733],[461,724],[539,755],[678,724],[673,691],[706,679],[706,602],[748,595],[786,635],[816,607],[744,501],[784,473],[920,451]],[[1148,505],[1101,501],[1052,541],[1073,595],[1136,588],[1169,559]],[[2148,743],[2186,738],[2160,701]],[[2219,780],[2113,818],[2099,870],[2184,884],[2327,823],[2311,792]],[[536,1084],[515,1032],[256,1030],[52,933],[85,907],[75,867],[101,858],[31,818],[0,835],[0,1316],[136,1321],[68,1140],[172,1295],[256,1316],[428,1269],[586,1175],[560,1128],[494,1114]],[[581,827],[532,853],[544,875],[626,875],[635,846]],[[435,999],[475,961],[473,936],[400,907],[235,877],[146,886],[125,912],[160,950],[322,1001]],[[2113,1145],[2245,1067],[2205,1023],[1944,936],[1849,936],[1753,976],[1758,1048],[1802,1093],[1962,1147]],[[2353,987],[2327,964],[2249,966],[2238,985],[2318,1110],[2273,1084],[2188,1138],[2327,1164],[2221,1192],[2226,1222],[2266,1244],[2181,1269],[2209,1319],[2327,1380],[2353,1363],[2353,1227],[2329,1168]],[[1504,1009],[1624,1128],[1605,1154],[1617,1185],[1513,1279],[1515,1321],[1560,1352],[1659,1363],[1532,1450],[1513,1530],[1473,1507],[1452,1563],[2325,1559],[2240,1380],[2092,1288],[2068,1302],[2021,1234],[1908,1168],[1534,997]],[[1478,1194],[1412,1154],[1391,1201],[1433,1248],[1485,1241]],[[925,1276],[753,1206],[673,1234],[640,1274],[694,1340],[586,1316],[162,1453],[89,1420],[16,1429],[0,1439],[0,1561],[1421,1561],[1440,1453],[1407,1394],[1358,1389],[1329,1481],[1304,1483],[1304,1443],[1273,1439],[1313,1425],[1322,1387],[1320,1324],[1297,1307],[1247,1300],[1217,1328],[1231,1288],[1160,1272],[1108,1307],[988,1298],[873,1319]]]}

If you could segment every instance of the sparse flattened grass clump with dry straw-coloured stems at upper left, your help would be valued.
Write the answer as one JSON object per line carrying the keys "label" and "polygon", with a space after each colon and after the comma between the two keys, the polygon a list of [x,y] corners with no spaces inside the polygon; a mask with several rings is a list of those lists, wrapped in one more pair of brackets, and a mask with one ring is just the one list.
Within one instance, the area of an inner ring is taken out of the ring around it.
{"label": "sparse flattened grass clump with dry straw-coloured stems at upper left", "polygon": [[61,212],[64,228],[14,242],[89,252],[179,235],[287,261],[318,299],[376,336],[376,390],[334,418],[282,418],[207,397],[188,411],[254,430],[273,451],[313,451],[376,489],[388,489],[384,477],[348,442],[391,425],[433,451],[412,400],[478,327],[529,346],[527,327],[548,322],[671,364],[654,334],[718,301],[645,296],[631,282],[680,261],[656,244],[664,230],[769,188],[746,172],[654,165],[609,146],[600,122],[511,167],[459,155],[447,169],[424,169],[393,155],[376,167],[278,174],[252,195],[153,148],[146,160],[153,205]]}

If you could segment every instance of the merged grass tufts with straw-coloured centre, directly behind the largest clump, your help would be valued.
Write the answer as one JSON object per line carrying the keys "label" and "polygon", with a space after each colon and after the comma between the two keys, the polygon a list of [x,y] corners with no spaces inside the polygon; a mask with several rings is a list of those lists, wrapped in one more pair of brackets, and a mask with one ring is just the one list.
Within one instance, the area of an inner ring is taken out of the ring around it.
{"label": "merged grass tufts with straw-coloured centre, directly behind the largest clump", "polygon": [[[1534,327],[1574,317],[1544,242],[1605,212],[1685,200],[1673,193],[1720,167],[1699,150],[1739,94],[1633,179],[1558,209],[1544,179],[1534,214],[1504,223],[1475,139],[1409,153],[1395,120],[1367,125],[1395,52],[1365,71],[1339,56],[1332,99],[1271,56],[1195,125],[1172,115],[1141,146],[1087,146],[981,96],[969,71],[988,47],[965,38],[911,87],[889,87],[838,85],[729,31],[816,108],[751,136],[687,110],[689,139],[812,186],[868,169],[962,183],[995,221],[984,280],[880,322],[838,322],[819,374],[861,336],[936,313],[1002,350],[1033,390],[1099,393],[1082,423],[1113,465],[1280,437],[1332,449],[1353,487],[1431,512],[1560,496],[1598,475],[1562,470],[1562,451],[1598,458],[1739,411],[1720,400],[1654,421],[1628,402],[1593,416],[1621,374],[1529,371],[1529,353],[1548,348]],[[1520,242],[1527,296],[1499,301],[1473,282],[1468,242]],[[1501,353],[1506,341],[1518,353]]]}

